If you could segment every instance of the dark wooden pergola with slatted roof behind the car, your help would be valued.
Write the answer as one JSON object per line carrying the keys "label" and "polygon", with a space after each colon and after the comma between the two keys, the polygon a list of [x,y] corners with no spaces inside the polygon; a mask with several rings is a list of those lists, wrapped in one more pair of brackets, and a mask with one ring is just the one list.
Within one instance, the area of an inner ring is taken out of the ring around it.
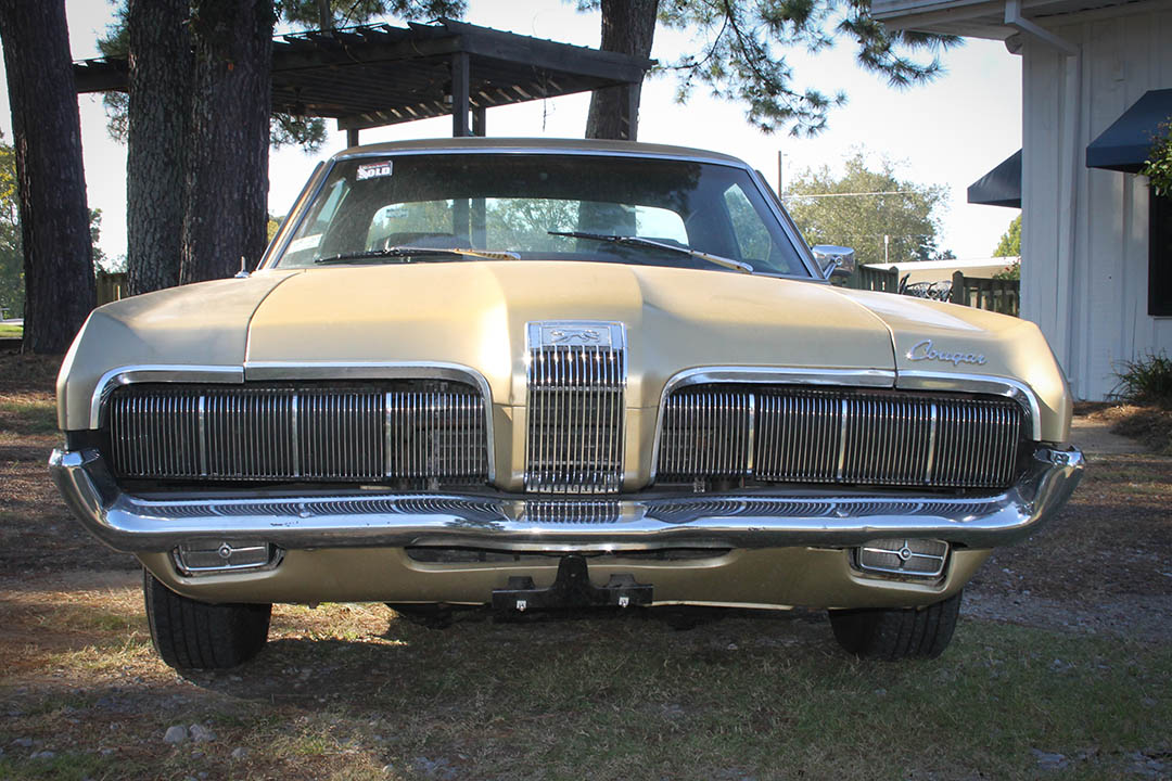
{"label": "dark wooden pergola with slatted roof behind the car", "polygon": [[[366,128],[449,115],[454,136],[483,136],[492,107],[619,88],[629,138],[631,87],[653,64],[450,19],[313,30],[273,40],[273,111],[336,119],[354,146]],[[76,62],[74,77],[79,93],[125,91],[127,59]]]}

